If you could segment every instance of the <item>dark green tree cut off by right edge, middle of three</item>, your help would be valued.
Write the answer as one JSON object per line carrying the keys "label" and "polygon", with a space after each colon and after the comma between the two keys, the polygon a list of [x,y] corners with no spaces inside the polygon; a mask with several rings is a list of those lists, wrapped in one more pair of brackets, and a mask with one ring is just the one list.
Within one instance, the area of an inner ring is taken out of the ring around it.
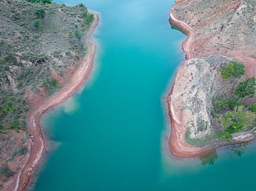
{"label": "dark green tree cut off by right edge, middle of three", "polygon": [[246,81],[240,82],[236,88],[236,95],[239,97],[254,96],[255,94],[255,77],[250,77]]}

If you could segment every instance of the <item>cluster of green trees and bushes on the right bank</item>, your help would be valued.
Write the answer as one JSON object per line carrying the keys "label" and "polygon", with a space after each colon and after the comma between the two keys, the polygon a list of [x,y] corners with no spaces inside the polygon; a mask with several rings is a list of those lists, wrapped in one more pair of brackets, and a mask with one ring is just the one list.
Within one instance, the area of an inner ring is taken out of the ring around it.
{"label": "cluster of green trees and bushes on the right bank", "polygon": [[[222,77],[226,80],[241,78],[244,74],[244,65],[231,61],[225,69],[221,70]],[[232,134],[243,132],[255,126],[255,104],[242,105],[244,99],[254,97],[255,78],[251,77],[240,82],[235,89],[235,95],[230,99],[225,97],[213,97],[212,116],[218,118],[221,116],[221,124],[225,130],[218,133],[218,139],[225,139],[230,142]]]}

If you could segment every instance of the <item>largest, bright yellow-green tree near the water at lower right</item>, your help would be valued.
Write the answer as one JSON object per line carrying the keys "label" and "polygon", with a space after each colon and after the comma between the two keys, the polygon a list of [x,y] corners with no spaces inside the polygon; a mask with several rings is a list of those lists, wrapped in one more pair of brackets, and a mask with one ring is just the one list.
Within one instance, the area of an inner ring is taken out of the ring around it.
{"label": "largest, bright yellow-green tree near the water at lower right", "polygon": [[224,138],[227,142],[230,142],[230,139],[233,138],[231,134],[243,132],[244,128],[252,126],[255,116],[253,112],[247,112],[243,105],[235,106],[234,111],[227,111],[221,119],[226,129],[217,134],[218,139]]}

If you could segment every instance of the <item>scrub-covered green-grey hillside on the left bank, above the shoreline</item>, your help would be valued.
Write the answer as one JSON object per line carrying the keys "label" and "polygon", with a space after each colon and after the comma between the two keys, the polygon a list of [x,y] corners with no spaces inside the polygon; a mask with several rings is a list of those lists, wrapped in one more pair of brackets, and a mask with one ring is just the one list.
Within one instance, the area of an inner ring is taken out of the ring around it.
{"label": "scrub-covered green-grey hillside on the left bank, above the shoreline", "polygon": [[4,190],[13,190],[33,141],[28,112],[70,83],[87,53],[87,31],[93,20],[83,4],[0,1],[0,187]]}

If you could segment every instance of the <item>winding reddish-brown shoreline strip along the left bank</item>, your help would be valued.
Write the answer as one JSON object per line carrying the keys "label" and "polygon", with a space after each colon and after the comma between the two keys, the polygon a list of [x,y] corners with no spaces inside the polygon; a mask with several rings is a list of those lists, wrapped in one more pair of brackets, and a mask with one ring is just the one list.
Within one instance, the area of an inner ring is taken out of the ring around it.
{"label": "winding reddish-brown shoreline strip along the left bank", "polygon": [[22,165],[19,171],[14,191],[26,190],[27,186],[29,186],[32,173],[36,170],[45,152],[47,145],[40,126],[42,115],[70,98],[83,85],[92,71],[96,42],[92,39],[91,35],[95,31],[96,26],[99,25],[99,14],[95,11],[88,11],[88,13],[93,13],[95,18],[87,32],[88,51],[83,58],[82,64],[79,65],[79,68],[77,68],[67,86],[53,94],[53,96],[45,99],[43,105],[41,103],[34,105],[33,109],[27,114],[27,123],[29,124],[28,132],[30,133],[29,152],[26,154],[25,164]]}

